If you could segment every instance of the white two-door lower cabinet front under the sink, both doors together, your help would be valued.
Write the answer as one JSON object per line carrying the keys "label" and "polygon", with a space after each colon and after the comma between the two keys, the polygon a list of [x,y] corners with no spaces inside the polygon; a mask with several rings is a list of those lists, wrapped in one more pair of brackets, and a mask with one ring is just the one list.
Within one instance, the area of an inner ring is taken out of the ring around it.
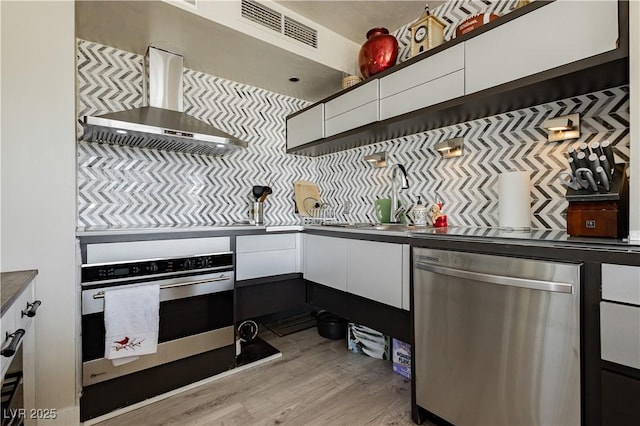
{"label": "white two-door lower cabinet front under the sink, both doors together", "polygon": [[408,310],[409,246],[307,234],[304,278]]}

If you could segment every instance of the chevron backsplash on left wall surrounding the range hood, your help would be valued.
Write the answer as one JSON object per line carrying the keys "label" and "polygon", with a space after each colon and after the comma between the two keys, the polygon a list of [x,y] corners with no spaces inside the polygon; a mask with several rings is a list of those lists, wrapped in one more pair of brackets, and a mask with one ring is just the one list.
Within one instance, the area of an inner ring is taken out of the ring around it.
{"label": "chevron backsplash on left wall surrounding the range hood", "polygon": [[[297,220],[292,182],[313,180],[314,163],[285,154],[284,118],[308,102],[189,69],[184,80],[185,112],[249,148],[209,157],[78,142],[78,225],[243,220],[251,187],[269,181],[265,218]],[[78,91],[79,117],[142,106],[142,56],[78,40]]]}

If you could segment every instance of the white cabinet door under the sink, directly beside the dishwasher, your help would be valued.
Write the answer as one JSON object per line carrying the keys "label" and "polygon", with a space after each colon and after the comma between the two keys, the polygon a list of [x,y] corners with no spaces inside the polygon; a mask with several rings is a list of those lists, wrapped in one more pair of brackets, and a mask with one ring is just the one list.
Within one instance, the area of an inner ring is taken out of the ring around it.
{"label": "white cabinet door under the sink, directly beside the dishwasher", "polygon": [[347,240],[347,291],[402,308],[402,244]]}

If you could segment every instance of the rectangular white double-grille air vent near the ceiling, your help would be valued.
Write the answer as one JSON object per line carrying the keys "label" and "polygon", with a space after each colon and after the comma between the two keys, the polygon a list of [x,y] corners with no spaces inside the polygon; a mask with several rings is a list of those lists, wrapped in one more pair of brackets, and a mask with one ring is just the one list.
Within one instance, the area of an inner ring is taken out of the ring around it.
{"label": "rectangular white double-grille air vent near the ceiling", "polygon": [[242,0],[242,17],[300,43],[318,48],[318,30],[308,27],[254,0]]}

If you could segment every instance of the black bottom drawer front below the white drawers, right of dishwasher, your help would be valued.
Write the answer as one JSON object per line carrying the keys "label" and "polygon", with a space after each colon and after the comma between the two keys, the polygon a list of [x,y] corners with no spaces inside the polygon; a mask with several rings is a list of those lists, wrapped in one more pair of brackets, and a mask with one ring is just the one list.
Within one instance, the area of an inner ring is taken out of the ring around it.
{"label": "black bottom drawer front below the white drawers, right of dishwasher", "polygon": [[602,370],[603,426],[640,425],[640,372],[635,371],[637,377]]}

